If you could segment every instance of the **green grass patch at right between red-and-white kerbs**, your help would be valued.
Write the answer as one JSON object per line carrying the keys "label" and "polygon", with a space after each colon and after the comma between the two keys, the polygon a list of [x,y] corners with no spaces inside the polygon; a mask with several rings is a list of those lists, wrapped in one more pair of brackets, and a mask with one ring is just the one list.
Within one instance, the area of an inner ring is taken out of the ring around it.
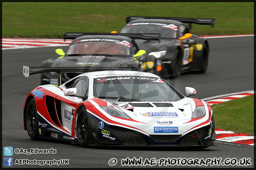
{"label": "green grass patch at right between red-and-white kerbs", "polygon": [[212,105],[215,129],[254,136],[254,95]]}

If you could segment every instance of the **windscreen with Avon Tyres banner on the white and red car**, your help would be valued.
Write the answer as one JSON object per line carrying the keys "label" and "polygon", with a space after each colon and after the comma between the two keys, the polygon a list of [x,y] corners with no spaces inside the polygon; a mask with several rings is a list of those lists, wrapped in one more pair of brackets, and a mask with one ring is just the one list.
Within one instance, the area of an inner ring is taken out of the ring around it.
{"label": "windscreen with Avon Tyres banner on the white and red car", "polygon": [[[183,96],[155,77],[120,76],[94,79],[94,96],[116,101],[178,101]],[[122,97],[122,98],[121,98]]]}

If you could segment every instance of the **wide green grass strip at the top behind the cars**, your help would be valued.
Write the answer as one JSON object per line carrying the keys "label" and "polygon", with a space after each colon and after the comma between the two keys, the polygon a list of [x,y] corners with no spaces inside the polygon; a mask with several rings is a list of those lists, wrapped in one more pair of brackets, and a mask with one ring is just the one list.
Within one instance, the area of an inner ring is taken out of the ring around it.
{"label": "wide green grass strip at the top behind the cars", "polygon": [[120,31],[128,16],[215,18],[192,34],[254,34],[254,2],[2,2],[2,37],[63,38]]}

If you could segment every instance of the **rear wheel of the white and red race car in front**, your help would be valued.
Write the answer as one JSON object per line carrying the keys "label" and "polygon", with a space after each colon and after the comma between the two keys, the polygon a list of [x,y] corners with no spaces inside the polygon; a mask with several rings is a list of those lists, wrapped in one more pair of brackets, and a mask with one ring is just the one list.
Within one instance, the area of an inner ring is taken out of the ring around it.
{"label": "rear wheel of the white and red race car in front", "polygon": [[28,136],[31,140],[38,140],[38,116],[36,109],[36,101],[33,99],[30,100],[27,106],[26,112],[26,128]]}

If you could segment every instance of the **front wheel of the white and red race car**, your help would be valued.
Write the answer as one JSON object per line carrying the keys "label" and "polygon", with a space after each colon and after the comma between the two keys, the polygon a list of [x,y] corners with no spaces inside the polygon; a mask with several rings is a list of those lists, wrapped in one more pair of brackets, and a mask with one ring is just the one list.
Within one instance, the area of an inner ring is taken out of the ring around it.
{"label": "front wheel of the white and red race car", "polygon": [[82,108],[76,121],[76,136],[81,147],[88,146],[88,115],[85,108]]}

